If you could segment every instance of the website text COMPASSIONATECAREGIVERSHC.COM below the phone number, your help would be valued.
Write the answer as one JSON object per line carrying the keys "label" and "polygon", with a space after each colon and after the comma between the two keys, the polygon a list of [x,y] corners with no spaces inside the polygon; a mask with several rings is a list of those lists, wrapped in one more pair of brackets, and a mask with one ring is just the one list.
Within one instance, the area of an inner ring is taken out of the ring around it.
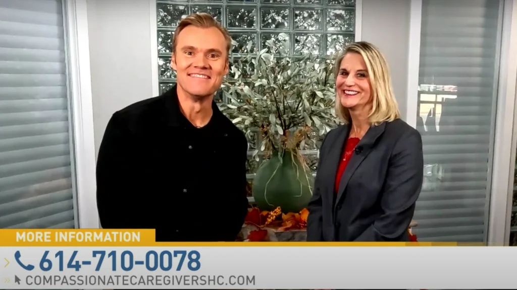
{"label": "website text COMPASSIONATECAREGIVERSHC.COM below the phone number", "polygon": [[23,280],[27,285],[53,286],[255,285],[254,275],[29,275]]}

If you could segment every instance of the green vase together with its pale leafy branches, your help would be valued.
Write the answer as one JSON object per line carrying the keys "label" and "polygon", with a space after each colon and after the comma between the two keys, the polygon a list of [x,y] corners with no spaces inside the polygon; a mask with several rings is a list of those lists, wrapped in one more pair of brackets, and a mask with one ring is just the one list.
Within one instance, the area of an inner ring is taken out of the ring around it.
{"label": "green vase together with its pale leafy branches", "polygon": [[220,109],[248,140],[260,137],[253,157],[265,160],[252,186],[258,208],[297,213],[307,206],[314,182],[300,150],[317,149],[316,142],[338,123],[332,62],[287,54],[286,34],[266,45],[233,63]]}

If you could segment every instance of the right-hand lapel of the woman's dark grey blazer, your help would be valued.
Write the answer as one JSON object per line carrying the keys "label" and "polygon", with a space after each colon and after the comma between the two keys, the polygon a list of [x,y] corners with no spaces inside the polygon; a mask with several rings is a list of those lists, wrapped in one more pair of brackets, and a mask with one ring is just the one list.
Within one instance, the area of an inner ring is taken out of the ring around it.
{"label": "right-hand lapel of the woman's dark grey blazer", "polygon": [[[371,126],[368,132],[364,134],[364,137],[359,141],[359,143],[356,146],[356,153],[352,154],[352,157],[350,158],[348,165],[346,165],[346,169],[343,172],[343,175],[341,176],[341,180],[339,182],[339,191],[338,196],[336,198],[336,202],[334,203],[334,207],[339,203],[340,199],[343,197],[344,191],[346,186],[348,185],[348,181],[350,181],[350,178],[356,171],[357,167],[361,164],[362,160],[368,156],[370,151],[372,150],[375,141],[381,134],[384,132],[384,128],[386,126],[386,123],[383,122],[379,124],[378,126]],[[348,136],[348,134],[346,134]],[[345,137],[346,137],[345,136]],[[343,140],[344,143],[344,140]],[[341,158],[338,158],[338,163]],[[336,167],[337,170],[337,167]]]}

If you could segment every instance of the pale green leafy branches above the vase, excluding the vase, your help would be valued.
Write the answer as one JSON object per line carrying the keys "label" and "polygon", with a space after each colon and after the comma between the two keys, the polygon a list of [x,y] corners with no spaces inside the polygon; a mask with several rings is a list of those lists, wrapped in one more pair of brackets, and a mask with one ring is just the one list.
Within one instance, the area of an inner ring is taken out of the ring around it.
{"label": "pale green leafy branches above the vase, excluding the vase", "polygon": [[314,142],[338,122],[332,62],[313,54],[290,56],[287,35],[276,40],[233,63],[220,108],[249,139],[261,131],[260,151],[315,149]]}

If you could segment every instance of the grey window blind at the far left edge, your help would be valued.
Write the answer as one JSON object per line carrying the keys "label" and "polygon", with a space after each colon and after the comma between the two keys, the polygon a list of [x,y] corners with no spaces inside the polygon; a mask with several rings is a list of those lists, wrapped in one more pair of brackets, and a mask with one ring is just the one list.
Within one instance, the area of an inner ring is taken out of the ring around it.
{"label": "grey window blind at the far left edge", "polygon": [[0,228],[74,228],[60,0],[0,0]]}

